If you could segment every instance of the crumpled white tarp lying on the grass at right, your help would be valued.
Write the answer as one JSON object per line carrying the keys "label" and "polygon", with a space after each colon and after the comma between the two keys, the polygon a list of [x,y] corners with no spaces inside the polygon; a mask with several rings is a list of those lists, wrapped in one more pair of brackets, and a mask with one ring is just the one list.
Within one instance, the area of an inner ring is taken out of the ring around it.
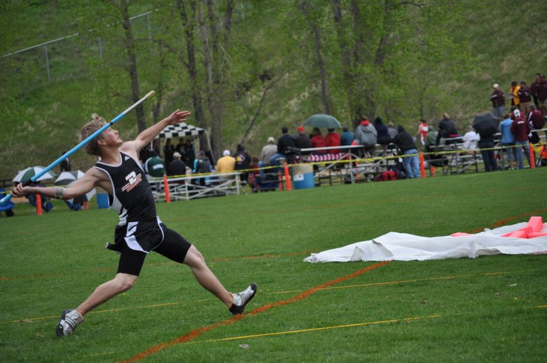
{"label": "crumpled white tarp lying on the grass at right", "polygon": [[[441,260],[444,258],[476,258],[493,254],[547,253],[547,236],[532,239],[500,237],[526,226],[513,224],[485,230],[466,237],[420,237],[414,234],[389,232],[383,236],[327,250],[304,259],[310,263]],[[542,232],[547,232],[547,223]]]}

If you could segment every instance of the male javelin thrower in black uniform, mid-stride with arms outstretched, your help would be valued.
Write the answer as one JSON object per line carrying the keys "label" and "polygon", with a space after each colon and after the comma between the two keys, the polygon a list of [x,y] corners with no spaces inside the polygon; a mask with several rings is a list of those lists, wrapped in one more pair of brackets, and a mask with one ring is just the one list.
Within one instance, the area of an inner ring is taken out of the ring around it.
{"label": "male javelin thrower in black uniform, mid-stride with arms outstretched", "polygon": [[[251,284],[241,293],[229,293],[209,270],[196,247],[167,228],[156,215],[151,188],[138,161],[138,150],[149,145],[166,126],[183,122],[190,114],[189,111],[177,109],[129,142],[123,142],[118,131],[110,127],[86,144],[88,154],[99,156],[99,161],[70,187],[35,188],[18,184],[12,191],[15,197],[40,193],[49,198],[66,200],[99,186],[109,193],[111,206],[119,213],[120,221],[114,230],[115,243],[107,245],[108,249],[120,253],[116,276],[97,287],[80,306],[62,312],[55,330],[57,336],[72,334],[90,310],[129,290],[135,284],[144,258],[150,251],[188,265],[199,284],[218,297],[232,314],[241,314],[255,296],[256,284]],[[106,123],[95,114],[92,117],[93,120],[81,129],[82,140]]]}

